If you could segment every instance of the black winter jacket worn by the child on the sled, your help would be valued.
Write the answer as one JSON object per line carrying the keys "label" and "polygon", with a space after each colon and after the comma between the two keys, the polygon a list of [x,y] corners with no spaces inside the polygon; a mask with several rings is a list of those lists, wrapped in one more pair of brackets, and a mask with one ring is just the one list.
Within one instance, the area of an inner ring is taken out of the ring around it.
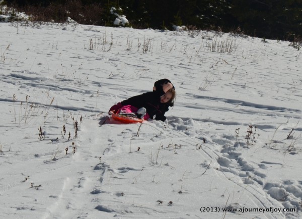
{"label": "black winter jacket worn by the child on the sled", "polygon": [[121,101],[122,105],[133,105],[137,108],[145,107],[150,119],[165,121],[164,116],[169,111],[169,103],[161,103],[161,97],[156,92],[147,92]]}

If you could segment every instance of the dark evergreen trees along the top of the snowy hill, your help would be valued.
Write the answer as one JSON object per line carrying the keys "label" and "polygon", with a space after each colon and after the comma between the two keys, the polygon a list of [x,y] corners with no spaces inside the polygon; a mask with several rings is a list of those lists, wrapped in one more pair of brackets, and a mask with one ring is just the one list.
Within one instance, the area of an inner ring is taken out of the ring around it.
{"label": "dark evergreen trees along the top of the snowy hill", "polygon": [[[121,8],[130,26],[169,29],[173,25],[294,40],[302,36],[301,0],[8,0],[37,20],[113,26],[110,8]],[[67,16],[66,11],[70,14]]]}

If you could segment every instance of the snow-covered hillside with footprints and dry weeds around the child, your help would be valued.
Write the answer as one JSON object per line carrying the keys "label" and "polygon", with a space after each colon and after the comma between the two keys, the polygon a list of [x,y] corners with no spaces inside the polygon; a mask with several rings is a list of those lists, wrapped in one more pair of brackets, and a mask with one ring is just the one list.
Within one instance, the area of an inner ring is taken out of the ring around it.
{"label": "snow-covered hillside with footprints and dry weeds around the child", "polygon": [[[0,217],[301,218],[302,61],[288,42],[0,29]],[[109,119],[162,78],[177,92],[166,122]]]}

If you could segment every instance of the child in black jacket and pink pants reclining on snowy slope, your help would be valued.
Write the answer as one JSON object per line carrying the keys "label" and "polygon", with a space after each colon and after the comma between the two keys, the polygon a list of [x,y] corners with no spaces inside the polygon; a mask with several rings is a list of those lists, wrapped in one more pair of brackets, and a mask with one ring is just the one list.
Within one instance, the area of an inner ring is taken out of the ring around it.
{"label": "child in black jacket and pink pants reclining on snowy slope", "polygon": [[[146,92],[111,106],[110,111],[117,114],[135,113],[144,120],[153,119],[165,121],[165,113],[169,106],[174,105],[175,88],[170,80],[161,79],[154,83],[153,92]],[[144,111],[146,113],[144,113]]]}

